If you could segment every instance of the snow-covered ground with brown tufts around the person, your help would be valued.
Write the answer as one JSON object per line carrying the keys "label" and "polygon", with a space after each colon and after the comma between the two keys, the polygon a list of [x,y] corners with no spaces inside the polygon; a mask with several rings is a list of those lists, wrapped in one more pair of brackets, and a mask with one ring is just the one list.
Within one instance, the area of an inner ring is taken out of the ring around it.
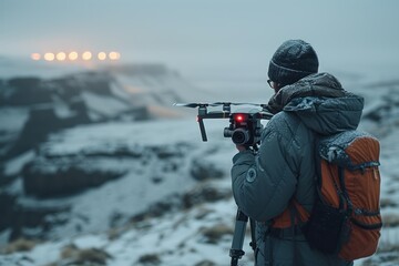
{"label": "snow-covered ground with brown tufts around the person", "polygon": [[[52,134],[39,150],[43,165],[60,157],[65,163],[75,160],[72,162],[86,168],[121,171],[124,174],[83,193],[47,200],[22,195],[21,180],[12,183],[8,190],[21,193],[18,201],[24,206],[69,205],[70,209],[48,217],[58,222],[68,221],[47,233],[49,241],[2,245],[9,254],[0,255],[0,265],[229,264],[236,213],[231,195],[229,170],[236,151],[231,140],[223,136],[228,121],[205,120],[208,142],[202,142],[195,110],[165,106],[168,101],[172,105],[178,96],[188,102],[265,103],[272,90],[260,79],[234,81],[234,84],[203,80],[194,86],[187,83],[190,91],[184,90],[181,83],[180,86],[165,88],[154,80],[145,80],[120,75],[117,84],[133,94],[143,93],[144,86],[152,90],[150,93],[145,91],[147,95],[158,93],[165,104],[158,106],[151,101],[150,104],[154,109],[163,108],[160,112],[168,110],[178,119],[170,116],[155,121],[80,125]],[[379,252],[371,258],[356,262],[356,265],[390,266],[399,264],[399,143],[396,141],[399,131],[399,82],[395,76],[390,83],[376,83],[378,81],[372,76],[351,79],[344,74],[341,79],[347,90],[366,99],[360,129],[377,135],[381,142],[381,211],[389,222],[382,229]],[[242,88],[246,85],[248,89],[243,92]],[[101,99],[84,96],[101,110]],[[8,113],[0,114],[4,115],[4,121],[6,117],[12,119],[11,115],[19,115],[18,111]],[[380,115],[381,119],[367,117],[370,115]],[[23,119],[23,115],[20,116]],[[14,129],[21,126],[19,123],[10,120]],[[110,156],[121,149],[141,155]],[[96,155],[91,156],[93,154]],[[29,151],[8,161],[6,172],[19,173],[23,165],[35,158],[33,151]],[[206,172],[205,178],[195,178],[195,165],[203,165],[202,172],[212,171]],[[30,229],[34,235],[35,228]],[[4,243],[9,234],[10,231],[1,232],[0,241]],[[241,265],[252,265],[249,238],[247,234],[244,243],[246,255]],[[12,248],[18,250],[12,252]]]}

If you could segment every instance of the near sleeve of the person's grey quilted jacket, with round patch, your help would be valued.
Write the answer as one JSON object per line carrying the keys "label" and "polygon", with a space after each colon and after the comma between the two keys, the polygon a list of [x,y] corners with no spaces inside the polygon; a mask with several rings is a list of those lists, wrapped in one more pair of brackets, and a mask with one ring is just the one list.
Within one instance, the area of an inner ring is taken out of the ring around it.
{"label": "near sleeve of the person's grey quilted jacket, with round patch", "polygon": [[280,214],[294,195],[300,164],[296,127],[276,115],[263,132],[257,155],[244,151],[233,157],[234,198],[241,211],[256,221]]}

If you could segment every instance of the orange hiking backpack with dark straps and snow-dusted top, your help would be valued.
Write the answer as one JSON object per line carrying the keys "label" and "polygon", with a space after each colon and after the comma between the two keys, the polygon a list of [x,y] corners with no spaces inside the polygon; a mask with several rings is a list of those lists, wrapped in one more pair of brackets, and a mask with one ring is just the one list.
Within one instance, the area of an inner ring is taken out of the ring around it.
{"label": "orange hiking backpack with dark straps and snow-dusted top", "polygon": [[[318,196],[311,213],[293,201],[298,218],[306,222],[303,232],[313,248],[346,260],[376,252],[382,227],[379,153],[378,140],[360,131],[320,137],[316,152]],[[275,224],[285,227],[288,217],[286,209]]]}

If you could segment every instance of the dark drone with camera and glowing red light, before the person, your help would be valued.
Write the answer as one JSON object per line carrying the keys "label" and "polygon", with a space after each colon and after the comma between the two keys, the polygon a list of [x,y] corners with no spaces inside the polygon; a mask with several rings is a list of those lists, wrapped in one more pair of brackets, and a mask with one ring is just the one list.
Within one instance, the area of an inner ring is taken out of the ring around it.
{"label": "dark drone with camera and glowing red light, before the person", "polygon": [[[224,136],[232,137],[235,144],[253,146],[260,141],[263,124],[260,120],[269,120],[273,114],[267,111],[267,104],[256,103],[174,103],[174,106],[198,109],[197,122],[200,124],[201,136],[204,142],[207,141],[204,119],[229,119],[229,126],[224,129]],[[260,106],[262,110],[250,110],[232,112],[232,105],[252,105]],[[208,106],[222,106],[219,111],[208,111]]]}

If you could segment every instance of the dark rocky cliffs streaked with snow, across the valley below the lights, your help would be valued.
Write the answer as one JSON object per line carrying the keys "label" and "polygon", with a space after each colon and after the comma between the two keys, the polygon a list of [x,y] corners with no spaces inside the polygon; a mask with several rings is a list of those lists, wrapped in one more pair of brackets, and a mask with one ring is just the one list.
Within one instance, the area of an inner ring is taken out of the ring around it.
{"label": "dark rocky cliffs streaked with snow, across the valley below the lights", "polygon": [[[0,216],[6,218],[0,222],[0,232],[9,231],[9,239],[45,237],[45,232],[70,219],[73,204],[62,198],[79,196],[119,180],[132,168],[139,171],[139,166],[132,166],[136,162],[140,162],[140,167],[145,167],[152,162],[151,157],[166,162],[177,156],[174,154],[176,151],[171,153],[162,147],[149,147],[143,153],[143,149],[131,149],[123,143],[105,150],[94,144],[89,150],[66,154],[48,150],[57,143],[59,133],[66,129],[78,127],[79,132],[79,126],[83,125],[130,124],[157,119],[157,113],[149,106],[155,104],[162,110],[162,105],[172,105],[160,95],[165,93],[172,102],[176,101],[167,91],[178,85],[187,86],[187,83],[163,65],[117,66],[55,79],[21,76],[1,80]],[[132,92],[132,88],[140,93]],[[101,145],[114,145],[112,130],[106,139]],[[90,137],[86,140],[88,143],[91,141]],[[73,146],[74,143],[66,145]],[[110,162],[117,166],[110,166]],[[126,166],[121,167],[119,162]],[[129,166],[130,162],[132,165]],[[164,167],[170,172],[178,168],[176,163]],[[154,175],[152,181],[162,183],[163,177]],[[38,198],[39,202],[39,198],[61,200],[55,205],[41,205],[38,202],[27,204],[21,201],[24,197]],[[32,228],[39,229],[32,233]]]}

